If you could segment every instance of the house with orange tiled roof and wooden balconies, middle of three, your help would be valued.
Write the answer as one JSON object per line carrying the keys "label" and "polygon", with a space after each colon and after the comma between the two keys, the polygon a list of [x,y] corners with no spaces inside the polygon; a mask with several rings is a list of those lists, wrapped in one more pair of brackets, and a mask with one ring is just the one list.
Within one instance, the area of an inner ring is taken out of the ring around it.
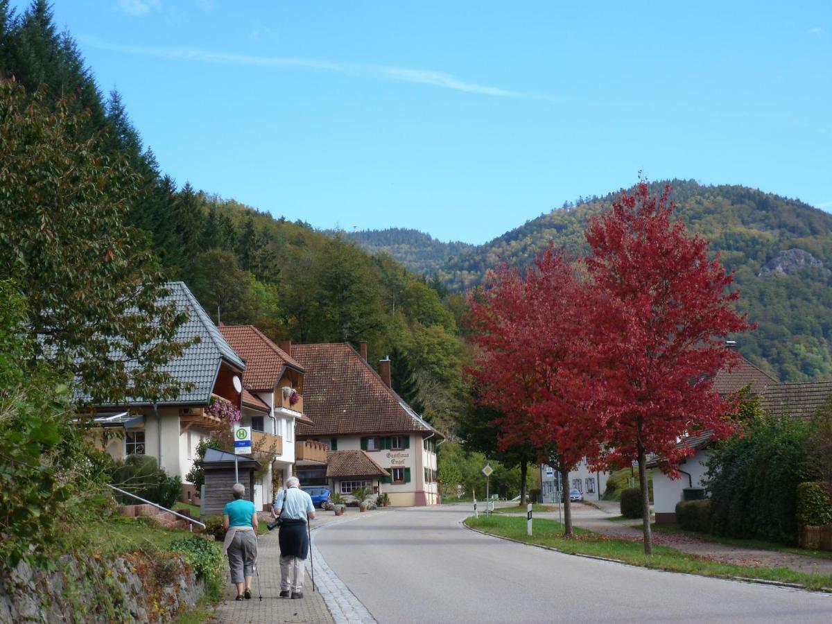
{"label": "house with orange tiled roof and wooden balconies, middle of three", "polygon": [[322,444],[297,441],[296,428],[311,424],[304,414],[305,369],[254,325],[220,324],[220,333],[245,361],[240,424],[251,427],[255,452],[272,458],[255,484],[255,504],[270,509],[296,458],[325,465]]}

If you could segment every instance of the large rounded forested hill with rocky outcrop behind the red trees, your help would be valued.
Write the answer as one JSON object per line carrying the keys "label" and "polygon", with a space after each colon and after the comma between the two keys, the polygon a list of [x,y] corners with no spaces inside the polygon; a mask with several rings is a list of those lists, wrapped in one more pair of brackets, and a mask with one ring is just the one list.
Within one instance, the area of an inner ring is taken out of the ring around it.
{"label": "large rounded forested hill with rocky outcrop behind the red trees", "polygon": [[[653,186],[658,191],[663,185]],[[683,180],[673,180],[671,186],[678,214],[736,271],[740,308],[759,324],[738,337],[742,353],[784,381],[832,377],[832,215],[744,186]],[[527,265],[550,240],[583,250],[587,217],[608,207],[615,195],[567,203],[463,250],[439,275],[449,289],[468,290],[501,260]],[[399,260],[416,270],[420,266]]]}

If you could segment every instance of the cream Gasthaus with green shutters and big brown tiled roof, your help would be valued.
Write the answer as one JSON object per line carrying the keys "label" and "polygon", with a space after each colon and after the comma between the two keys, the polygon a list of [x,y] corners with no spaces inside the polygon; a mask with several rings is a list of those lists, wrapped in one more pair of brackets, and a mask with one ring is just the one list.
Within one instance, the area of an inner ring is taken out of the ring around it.
{"label": "cream Gasthaus with green shutters and big brown tiled roof", "polygon": [[[369,486],[387,493],[393,505],[438,503],[436,443],[443,436],[394,392],[390,360],[381,360],[377,373],[367,361],[366,343],[360,354],[343,343],[292,344],[290,349],[306,371],[305,414],[313,423],[298,435],[330,450],[326,468],[297,463],[301,483],[328,485],[344,495]],[[342,458],[344,451],[349,453]],[[344,466],[358,460],[368,474],[344,473],[353,469]],[[386,475],[374,473],[373,464]]]}

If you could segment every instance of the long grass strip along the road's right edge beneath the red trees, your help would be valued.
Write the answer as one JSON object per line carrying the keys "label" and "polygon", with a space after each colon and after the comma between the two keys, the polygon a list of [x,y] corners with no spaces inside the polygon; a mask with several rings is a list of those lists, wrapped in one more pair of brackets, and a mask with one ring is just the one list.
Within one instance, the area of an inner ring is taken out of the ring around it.
{"label": "long grass strip along the road's right edge beneath the red trees", "polygon": [[555,548],[569,554],[606,557],[628,563],[633,566],[649,567],[667,572],[685,572],[703,577],[717,578],[755,578],[765,581],[795,583],[807,589],[820,590],[832,587],[832,575],[795,572],[785,567],[745,567],[729,563],[714,562],[704,557],[689,555],[673,548],[654,546],[652,557],[644,554],[641,542],[629,542],[599,535],[591,531],[576,528],[575,537],[563,536],[563,525],[555,520],[537,519],[534,521],[534,535],[526,535],[526,518],[509,516],[492,516],[491,518],[466,518],[468,527],[502,537],[510,537],[518,542],[527,542]]}

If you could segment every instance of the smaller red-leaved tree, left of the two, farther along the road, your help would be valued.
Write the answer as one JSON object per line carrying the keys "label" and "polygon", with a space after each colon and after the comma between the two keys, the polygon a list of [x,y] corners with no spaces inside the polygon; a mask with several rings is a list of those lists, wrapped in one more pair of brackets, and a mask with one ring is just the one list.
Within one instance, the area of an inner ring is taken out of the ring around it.
{"label": "smaller red-leaved tree, left of the two, farther along the road", "polygon": [[[472,373],[479,400],[503,414],[503,448],[532,443],[556,463],[563,487],[581,458],[600,449],[593,353],[582,339],[588,291],[552,247],[537,256],[525,276],[503,265],[489,273],[471,299],[468,326],[478,346]],[[567,535],[572,534],[568,497]]]}

